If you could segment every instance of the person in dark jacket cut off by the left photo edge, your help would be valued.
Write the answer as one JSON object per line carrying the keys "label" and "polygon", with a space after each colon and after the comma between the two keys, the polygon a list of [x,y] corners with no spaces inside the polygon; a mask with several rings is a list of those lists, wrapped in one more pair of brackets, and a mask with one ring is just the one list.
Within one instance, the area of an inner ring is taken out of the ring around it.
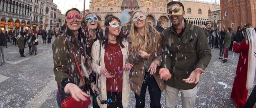
{"label": "person in dark jacket cut off by the left photo edge", "polygon": [[0,66],[2,66],[4,61],[4,54],[3,54],[3,46],[5,45],[5,37],[2,29],[0,29]]}

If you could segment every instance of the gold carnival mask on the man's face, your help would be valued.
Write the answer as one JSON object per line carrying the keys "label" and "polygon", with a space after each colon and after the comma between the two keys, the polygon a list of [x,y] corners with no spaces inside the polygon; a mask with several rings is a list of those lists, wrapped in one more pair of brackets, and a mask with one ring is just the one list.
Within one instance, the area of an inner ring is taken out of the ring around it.
{"label": "gold carnival mask on the man's face", "polygon": [[168,6],[167,13],[168,16],[181,16],[183,12],[182,6]]}

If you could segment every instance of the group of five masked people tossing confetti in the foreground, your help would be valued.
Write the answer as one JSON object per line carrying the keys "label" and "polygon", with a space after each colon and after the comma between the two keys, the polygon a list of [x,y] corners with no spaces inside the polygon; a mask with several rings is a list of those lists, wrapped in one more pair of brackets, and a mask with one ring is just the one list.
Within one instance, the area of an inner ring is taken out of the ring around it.
{"label": "group of five masked people tossing confetti in the foreground", "polygon": [[161,33],[144,12],[133,12],[127,39],[118,17],[106,19],[101,28],[96,15],[68,10],[52,44],[58,106],[69,97],[88,101],[83,91],[89,90],[93,108],[123,108],[130,104],[132,90],[136,108],[144,108],[148,88],[151,108],[161,108],[164,89],[167,108],[174,108],[179,91],[182,106],[193,108],[211,49],[203,29],[183,18],[181,2],[169,2],[167,8],[172,26]]}

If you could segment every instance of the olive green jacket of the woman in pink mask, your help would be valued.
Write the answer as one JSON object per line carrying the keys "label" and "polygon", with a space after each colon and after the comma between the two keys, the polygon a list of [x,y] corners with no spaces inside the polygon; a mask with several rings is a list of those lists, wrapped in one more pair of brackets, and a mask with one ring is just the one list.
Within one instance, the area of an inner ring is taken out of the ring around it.
{"label": "olive green jacket of the woman in pink mask", "polygon": [[[72,44],[66,36],[58,36],[52,43],[53,71],[55,80],[64,88],[65,80],[79,85],[79,71],[76,67],[72,53]],[[75,48],[74,52],[79,49]],[[81,64],[81,55],[76,54],[79,65]],[[68,67],[68,64],[70,67]],[[80,68],[81,69],[81,68]],[[83,69],[81,69],[83,70]]]}

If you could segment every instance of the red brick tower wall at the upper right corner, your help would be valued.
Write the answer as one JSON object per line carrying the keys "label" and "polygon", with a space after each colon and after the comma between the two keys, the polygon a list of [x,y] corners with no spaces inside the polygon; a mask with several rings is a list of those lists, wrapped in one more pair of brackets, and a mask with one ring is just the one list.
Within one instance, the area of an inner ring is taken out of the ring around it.
{"label": "red brick tower wall at the upper right corner", "polygon": [[223,27],[231,27],[234,31],[245,23],[256,27],[256,0],[220,0],[220,3]]}

